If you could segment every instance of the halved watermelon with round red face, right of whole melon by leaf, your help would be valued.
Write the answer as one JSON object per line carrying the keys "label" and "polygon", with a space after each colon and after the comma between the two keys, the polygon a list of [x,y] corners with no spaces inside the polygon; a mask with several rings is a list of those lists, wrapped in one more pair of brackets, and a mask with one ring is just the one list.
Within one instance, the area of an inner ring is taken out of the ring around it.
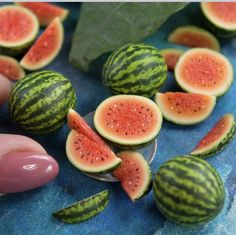
{"label": "halved watermelon with round red face, right of whole melon by leaf", "polygon": [[187,92],[221,96],[229,90],[233,77],[230,61],[205,48],[188,50],[175,67],[175,79]]}

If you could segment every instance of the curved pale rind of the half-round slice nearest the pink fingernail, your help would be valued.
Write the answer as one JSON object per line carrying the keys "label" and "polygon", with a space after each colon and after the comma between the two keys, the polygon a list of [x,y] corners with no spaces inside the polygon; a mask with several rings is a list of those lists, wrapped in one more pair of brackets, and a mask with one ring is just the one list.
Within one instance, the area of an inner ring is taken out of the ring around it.
{"label": "curved pale rind of the half-round slice nearest the pink fingernail", "polygon": [[[77,169],[79,169],[80,171],[86,172],[86,173],[105,174],[105,173],[112,172],[113,170],[115,170],[121,164],[121,159],[116,157],[115,154],[114,154],[114,159],[113,159],[112,162],[107,164],[104,161],[103,166],[100,166],[100,167],[94,167],[92,164],[91,164],[91,166],[85,167],[84,165],[80,164],[78,161],[75,160],[76,156],[74,156],[73,153],[70,151],[70,149],[72,148],[71,138],[73,138],[75,133],[76,133],[76,131],[72,129],[70,131],[69,135],[67,136],[67,139],[66,139],[66,156],[67,156],[68,160],[70,161],[70,163],[73,166],[75,166]],[[96,143],[93,142],[93,141],[91,141],[91,144],[96,145]],[[98,147],[99,146],[100,145],[98,145]]]}

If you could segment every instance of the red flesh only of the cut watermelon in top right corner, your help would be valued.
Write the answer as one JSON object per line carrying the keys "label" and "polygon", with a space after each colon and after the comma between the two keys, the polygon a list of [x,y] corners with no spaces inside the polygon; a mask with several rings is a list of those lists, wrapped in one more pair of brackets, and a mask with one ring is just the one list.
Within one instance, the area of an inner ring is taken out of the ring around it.
{"label": "red flesh only of the cut watermelon in top right corner", "polygon": [[228,25],[236,24],[236,2],[204,3],[212,16]]}

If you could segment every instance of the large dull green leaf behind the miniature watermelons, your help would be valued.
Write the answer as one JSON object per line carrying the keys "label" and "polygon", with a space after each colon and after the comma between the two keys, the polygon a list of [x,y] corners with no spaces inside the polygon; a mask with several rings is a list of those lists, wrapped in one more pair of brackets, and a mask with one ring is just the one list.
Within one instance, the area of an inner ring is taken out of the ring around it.
{"label": "large dull green leaf behind the miniature watermelons", "polygon": [[184,2],[83,3],[70,52],[70,62],[88,71],[92,61],[154,33]]}

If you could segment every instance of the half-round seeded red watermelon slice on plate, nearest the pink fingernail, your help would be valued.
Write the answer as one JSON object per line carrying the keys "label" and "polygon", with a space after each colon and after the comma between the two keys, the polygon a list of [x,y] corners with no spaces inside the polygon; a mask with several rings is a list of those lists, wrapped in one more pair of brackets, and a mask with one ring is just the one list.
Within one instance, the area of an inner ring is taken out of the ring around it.
{"label": "half-round seeded red watermelon slice on plate, nearest the pink fingernail", "polygon": [[87,173],[111,172],[121,163],[111,150],[76,130],[71,130],[67,137],[66,155],[76,168]]}

